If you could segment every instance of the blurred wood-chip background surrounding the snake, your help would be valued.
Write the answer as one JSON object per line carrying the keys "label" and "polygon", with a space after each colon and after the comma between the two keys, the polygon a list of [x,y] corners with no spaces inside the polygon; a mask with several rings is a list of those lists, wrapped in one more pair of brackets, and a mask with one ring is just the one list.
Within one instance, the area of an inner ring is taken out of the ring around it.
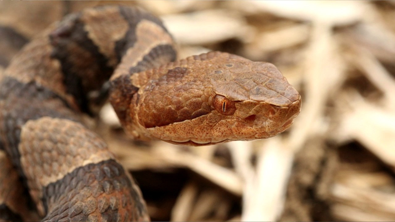
{"label": "blurred wood-chip background surrounding the snake", "polygon": [[271,62],[302,95],[286,132],[206,147],[132,141],[105,105],[97,132],[153,221],[395,220],[395,2],[0,2],[0,72],[53,21],[103,4],[161,17],[179,58],[219,50]]}

